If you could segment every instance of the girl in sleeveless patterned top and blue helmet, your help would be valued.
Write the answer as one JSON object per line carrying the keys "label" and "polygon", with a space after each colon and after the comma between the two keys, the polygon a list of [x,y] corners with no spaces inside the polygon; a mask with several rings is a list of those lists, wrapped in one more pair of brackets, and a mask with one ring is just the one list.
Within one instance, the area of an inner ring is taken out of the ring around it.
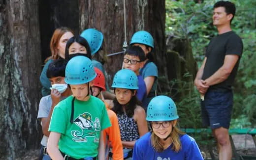
{"label": "girl in sleeveless patterned top and blue helmet", "polygon": [[135,141],[148,132],[145,110],[140,106],[136,97],[138,79],[129,69],[122,69],[116,73],[112,83],[116,98],[113,101],[113,111],[117,114],[124,147],[124,158],[131,157],[131,149]]}

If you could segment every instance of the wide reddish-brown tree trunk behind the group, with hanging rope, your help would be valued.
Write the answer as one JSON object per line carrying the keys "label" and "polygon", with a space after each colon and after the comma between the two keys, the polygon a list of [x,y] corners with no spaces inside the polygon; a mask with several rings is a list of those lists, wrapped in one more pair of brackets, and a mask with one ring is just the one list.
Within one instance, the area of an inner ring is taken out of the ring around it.
{"label": "wide reddish-brown tree trunk behind the group, with hanging rope", "polygon": [[[138,30],[149,31],[154,37],[154,58],[160,75],[167,73],[165,52],[165,0],[125,0],[127,43]],[[125,41],[124,0],[79,0],[80,31],[93,27],[104,35],[106,53],[123,51]],[[121,69],[123,54],[109,56],[104,67],[109,85]]]}

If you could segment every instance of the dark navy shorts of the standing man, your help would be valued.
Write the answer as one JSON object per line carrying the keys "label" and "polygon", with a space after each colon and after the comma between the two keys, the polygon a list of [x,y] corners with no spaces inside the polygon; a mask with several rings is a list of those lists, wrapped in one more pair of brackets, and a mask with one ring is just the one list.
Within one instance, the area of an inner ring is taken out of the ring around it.
{"label": "dark navy shorts of the standing man", "polygon": [[232,90],[209,90],[201,101],[203,126],[211,129],[229,128],[233,107]]}

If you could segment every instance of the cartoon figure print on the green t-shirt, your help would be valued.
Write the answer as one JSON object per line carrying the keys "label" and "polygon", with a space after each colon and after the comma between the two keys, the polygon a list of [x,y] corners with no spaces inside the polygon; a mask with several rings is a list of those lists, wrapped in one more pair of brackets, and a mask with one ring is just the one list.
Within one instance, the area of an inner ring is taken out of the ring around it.
{"label": "cartoon figure print on the green t-shirt", "polygon": [[81,129],[81,131],[71,131],[73,141],[87,142],[89,137],[94,138],[94,142],[99,141],[99,137],[96,132],[100,131],[100,122],[96,117],[95,121],[92,121],[92,115],[88,112],[84,112],[75,118],[74,123]]}

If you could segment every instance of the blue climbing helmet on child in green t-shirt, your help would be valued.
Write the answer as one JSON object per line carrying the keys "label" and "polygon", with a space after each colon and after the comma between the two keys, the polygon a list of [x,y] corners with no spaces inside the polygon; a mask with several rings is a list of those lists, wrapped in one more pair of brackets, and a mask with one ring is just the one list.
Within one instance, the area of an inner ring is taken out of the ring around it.
{"label": "blue climbing helmet on child in green t-shirt", "polygon": [[95,77],[93,63],[86,56],[74,56],[66,64],[64,80],[67,84],[84,84],[94,80]]}

